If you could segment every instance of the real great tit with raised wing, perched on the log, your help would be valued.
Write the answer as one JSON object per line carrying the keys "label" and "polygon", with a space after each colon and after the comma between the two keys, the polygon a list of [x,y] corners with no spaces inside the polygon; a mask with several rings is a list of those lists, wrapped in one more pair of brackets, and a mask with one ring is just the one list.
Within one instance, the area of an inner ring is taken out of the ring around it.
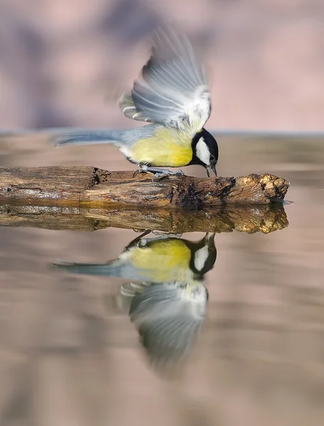
{"label": "real great tit with raised wing, perched on the log", "polygon": [[126,117],[151,124],[126,131],[61,129],[52,136],[55,145],[113,143],[139,165],[139,173],[157,178],[183,175],[163,168],[184,165],[202,165],[208,176],[210,170],[217,175],[217,141],[203,128],[211,111],[210,92],[188,38],[170,28],[157,31],[142,77],[121,96],[119,106]]}

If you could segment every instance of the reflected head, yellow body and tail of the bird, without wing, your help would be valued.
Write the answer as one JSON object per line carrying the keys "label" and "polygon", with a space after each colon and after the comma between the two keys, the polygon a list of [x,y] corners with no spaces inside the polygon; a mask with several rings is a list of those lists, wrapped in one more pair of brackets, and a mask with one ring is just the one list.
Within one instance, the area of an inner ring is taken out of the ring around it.
{"label": "reflected head, yellow body and tail of the bird, without wing", "polygon": [[168,237],[144,238],[149,231],[131,241],[118,258],[107,263],[53,263],[71,273],[107,275],[149,283],[188,282],[201,278],[215,263],[215,234],[200,241]]}

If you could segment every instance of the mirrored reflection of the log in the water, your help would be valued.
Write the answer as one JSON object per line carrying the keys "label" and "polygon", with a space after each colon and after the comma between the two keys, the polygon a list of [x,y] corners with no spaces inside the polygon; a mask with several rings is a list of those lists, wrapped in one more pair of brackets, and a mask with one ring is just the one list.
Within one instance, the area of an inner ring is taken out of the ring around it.
{"label": "mirrored reflection of the log in the water", "polygon": [[125,229],[155,229],[175,234],[233,230],[268,234],[288,226],[288,220],[281,204],[218,207],[198,212],[183,212],[178,209],[148,211],[3,204],[0,206],[0,225],[71,231],[95,231],[113,226]]}

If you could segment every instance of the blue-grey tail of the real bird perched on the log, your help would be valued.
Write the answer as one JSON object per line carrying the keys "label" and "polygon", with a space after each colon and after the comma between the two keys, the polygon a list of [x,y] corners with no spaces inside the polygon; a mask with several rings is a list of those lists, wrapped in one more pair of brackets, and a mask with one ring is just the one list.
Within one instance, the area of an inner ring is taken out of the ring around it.
{"label": "blue-grey tail of the real bird perched on the log", "polygon": [[87,129],[55,129],[50,140],[56,147],[66,145],[90,145],[95,143],[113,143],[119,145],[125,131],[87,130]]}

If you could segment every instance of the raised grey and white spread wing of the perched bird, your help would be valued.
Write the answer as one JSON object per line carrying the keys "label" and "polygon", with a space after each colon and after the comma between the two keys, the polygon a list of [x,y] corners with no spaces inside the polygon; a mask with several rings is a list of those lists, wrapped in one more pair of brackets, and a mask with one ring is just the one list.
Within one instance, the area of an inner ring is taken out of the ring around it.
{"label": "raised grey and white spread wing of the perched bird", "polygon": [[124,115],[139,121],[200,131],[210,116],[210,92],[202,64],[184,35],[159,31],[151,58],[134,82],[131,94],[121,97]]}

